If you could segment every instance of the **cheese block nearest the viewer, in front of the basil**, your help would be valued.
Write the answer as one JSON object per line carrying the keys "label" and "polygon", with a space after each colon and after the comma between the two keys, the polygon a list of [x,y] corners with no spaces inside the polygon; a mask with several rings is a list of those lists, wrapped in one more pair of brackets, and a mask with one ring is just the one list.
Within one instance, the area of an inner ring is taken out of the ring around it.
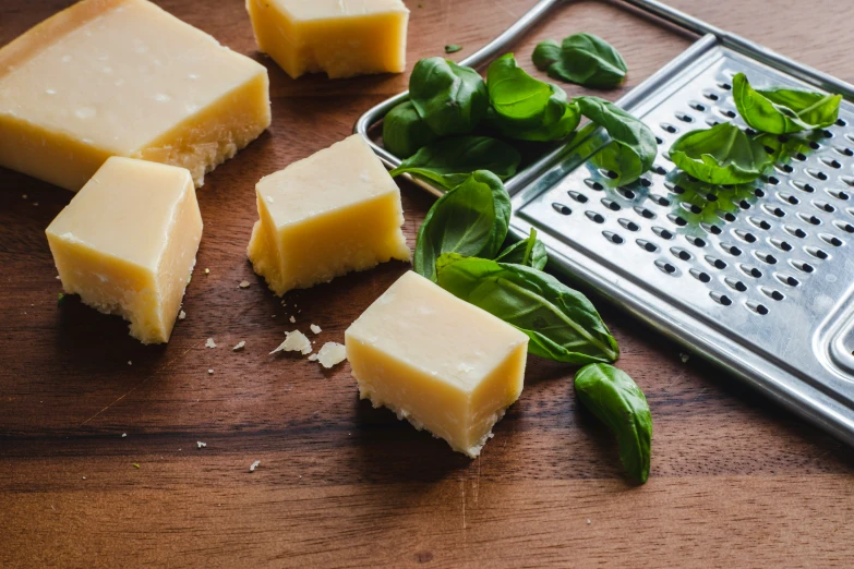
{"label": "cheese block nearest the viewer, in front of the basil", "polygon": [[477,457],[519,398],[528,337],[409,271],[345,332],[362,399]]}

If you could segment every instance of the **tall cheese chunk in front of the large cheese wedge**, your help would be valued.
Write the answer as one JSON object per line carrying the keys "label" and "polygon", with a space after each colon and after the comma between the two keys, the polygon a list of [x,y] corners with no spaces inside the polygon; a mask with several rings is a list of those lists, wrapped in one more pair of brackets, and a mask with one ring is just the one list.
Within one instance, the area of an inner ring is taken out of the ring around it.
{"label": "tall cheese chunk in front of the large cheese wedge", "polygon": [[169,341],[202,239],[185,168],[111,157],[47,228],[62,288]]}

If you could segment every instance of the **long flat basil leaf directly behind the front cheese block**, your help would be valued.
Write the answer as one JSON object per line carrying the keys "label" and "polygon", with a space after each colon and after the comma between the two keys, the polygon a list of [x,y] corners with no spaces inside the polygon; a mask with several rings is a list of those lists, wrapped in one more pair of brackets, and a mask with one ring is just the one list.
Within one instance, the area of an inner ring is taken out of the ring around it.
{"label": "long flat basil leaf directly behind the front cheese block", "polygon": [[570,364],[613,362],[616,340],[587,298],[522,265],[444,254],[438,284],[524,331],[528,351]]}

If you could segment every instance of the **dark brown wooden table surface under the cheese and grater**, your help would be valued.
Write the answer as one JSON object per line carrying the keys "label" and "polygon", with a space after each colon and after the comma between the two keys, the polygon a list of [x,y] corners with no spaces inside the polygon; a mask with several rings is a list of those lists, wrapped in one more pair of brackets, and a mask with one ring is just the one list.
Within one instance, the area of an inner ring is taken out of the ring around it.
{"label": "dark brown wooden table surface under the cheese and grater", "polygon": [[[671,1],[854,82],[850,2]],[[323,372],[268,355],[291,315],[341,341],[408,267],[292,292],[282,307],[245,258],[254,184],[349,134],[407,75],[291,81],[256,53],[242,0],[158,3],[267,65],[274,122],[199,191],[200,270],[163,347],[76,299],[57,307],[44,229],[72,194],[0,171],[0,566],[851,566],[852,450],[698,359],[683,363],[679,348],[602,302],[621,366],[652,409],[641,487],[624,481],[564,365],[531,358],[521,399],[469,460],[359,401],[347,364]],[[533,2],[407,3],[411,66],[450,43],[461,59]],[[0,45],[68,4],[3,0]],[[693,40],[578,2],[531,32],[519,60],[530,69],[538,40],[581,31],[622,51],[625,88]],[[432,198],[401,192],[413,245]]]}

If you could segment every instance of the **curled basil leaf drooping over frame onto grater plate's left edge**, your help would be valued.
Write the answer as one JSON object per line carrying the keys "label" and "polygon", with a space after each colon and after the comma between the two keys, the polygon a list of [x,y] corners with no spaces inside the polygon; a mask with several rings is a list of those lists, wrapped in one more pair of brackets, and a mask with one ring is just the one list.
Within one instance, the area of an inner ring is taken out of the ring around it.
{"label": "curled basil leaf drooping over frame onto grater plate's left edge", "polygon": [[658,144],[652,131],[613,102],[599,97],[576,97],[573,104],[581,114],[608,131],[612,144],[600,150],[599,159],[617,172],[618,183],[632,183],[652,168]]}

